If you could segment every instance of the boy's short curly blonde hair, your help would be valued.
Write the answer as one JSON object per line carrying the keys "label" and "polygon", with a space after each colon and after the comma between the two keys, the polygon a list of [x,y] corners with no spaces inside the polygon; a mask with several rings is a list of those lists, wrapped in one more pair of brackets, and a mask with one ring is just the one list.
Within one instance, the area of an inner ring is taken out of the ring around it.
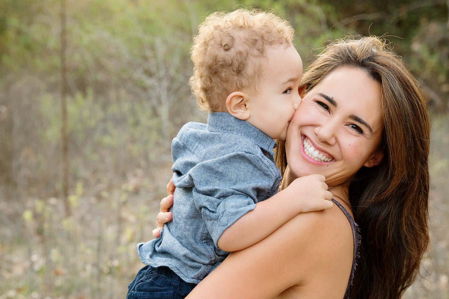
{"label": "boy's short curly blonde hair", "polygon": [[215,12],[198,26],[191,48],[190,88],[201,110],[223,109],[227,96],[255,84],[267,46],[292,44],[290,22],[260,9]]}

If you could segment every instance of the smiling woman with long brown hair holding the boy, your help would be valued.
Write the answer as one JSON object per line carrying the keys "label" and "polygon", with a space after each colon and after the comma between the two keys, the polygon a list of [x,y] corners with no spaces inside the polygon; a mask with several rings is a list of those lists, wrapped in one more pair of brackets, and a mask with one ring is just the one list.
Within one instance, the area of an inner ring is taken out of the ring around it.
{"label": "smiling woman with long brown hair holding the boy", "polygon": [[[343,208],[298,214],[230,254],[186,298],[396,299],[418,274],[429,239],[430,134],[418,84],[368,37],[326,47],[301,85],[303,101],[277,147],[281,188],[319,173]],[[310,147],[333,160],[311,159]],[[358,251],[342,211],[359,225]],[[158,223],[169,219],[160,213]]]}

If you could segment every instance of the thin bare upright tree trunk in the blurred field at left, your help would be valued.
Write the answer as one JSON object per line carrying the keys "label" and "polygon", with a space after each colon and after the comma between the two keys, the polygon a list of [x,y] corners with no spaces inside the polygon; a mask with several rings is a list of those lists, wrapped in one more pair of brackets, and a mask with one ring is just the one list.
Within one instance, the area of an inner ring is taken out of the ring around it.
{"label": "thin bare upright tree trunk in the blurred field at left", "polygon": [[62,117],[62,196],[66,216],[71,215],[69,204],[69,155],[67,137],[67,67],[66,67],[66,0],[61,0],[61,117]]}

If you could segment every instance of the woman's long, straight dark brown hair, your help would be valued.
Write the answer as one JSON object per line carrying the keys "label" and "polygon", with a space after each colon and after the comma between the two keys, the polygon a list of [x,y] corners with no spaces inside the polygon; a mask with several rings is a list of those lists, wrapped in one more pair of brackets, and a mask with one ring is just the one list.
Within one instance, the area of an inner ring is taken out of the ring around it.
{"label": "woman's long, straight dark brown hair", "polygon": [[[382,85],[383,161],[362,167],[349,186],[349,201],[361,230],[360,260],[352,299],[399,299],[414,282],[429,242],[430,125],[418,83],[383,39],[343,39],[326,47],[305,72],[306,92],[331,71],[353,66]],[[285,143],[276,162],[286,167]]]}

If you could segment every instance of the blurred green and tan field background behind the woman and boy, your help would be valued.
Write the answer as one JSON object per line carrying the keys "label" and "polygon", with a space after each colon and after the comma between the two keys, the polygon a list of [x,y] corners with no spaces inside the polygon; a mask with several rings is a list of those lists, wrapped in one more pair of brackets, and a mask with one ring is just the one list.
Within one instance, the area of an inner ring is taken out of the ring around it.
{"label": "blurred green and tan field background behind the woman and boy", "polygon": [[0,0],[0,299],[125,297],[171,139],[206,121],[187,86],[192,36],[208,13],[249,6],[291,20],[305,68],[345,35],[384,35],[403,57],[432,118],[431,244],[404,298],[449,299],[448,0]]}

